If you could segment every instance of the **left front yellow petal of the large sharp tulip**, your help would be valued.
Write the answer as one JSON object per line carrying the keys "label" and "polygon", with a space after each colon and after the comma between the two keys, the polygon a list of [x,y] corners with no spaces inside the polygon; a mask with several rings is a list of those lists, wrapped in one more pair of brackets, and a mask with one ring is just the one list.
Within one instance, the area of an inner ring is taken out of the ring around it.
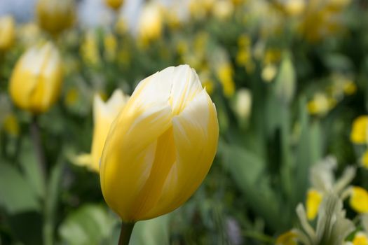
{"label": "left front yellow petal of the large sharp tulip", "polygon": [[132,96],[111,125],[100,168],[105,200],[124,221],[135,218],[135,200],[149,179],[157,139],[170,128],[172,117],[169,105],[154,104],[142,111],[130,103],[139,104]]}

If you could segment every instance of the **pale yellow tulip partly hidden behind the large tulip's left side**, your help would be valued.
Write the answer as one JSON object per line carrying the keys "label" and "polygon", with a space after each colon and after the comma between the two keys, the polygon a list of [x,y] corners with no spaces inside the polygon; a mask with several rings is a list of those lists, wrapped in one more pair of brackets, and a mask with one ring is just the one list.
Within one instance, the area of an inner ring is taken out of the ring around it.
{"label": "pale yellow tulip partly hidden behind the large tulip's left side", "polygon": [[104,148],[111,123],[119,111],[123,109],[129,96],[121,90],[115,90],[110,99],[104,103],[100,94],[96,94],[93,100],[93,140],[90,154],[79,155],[74,161],[77,165],[84,165],[95,172],[100,172],[100,158]]}

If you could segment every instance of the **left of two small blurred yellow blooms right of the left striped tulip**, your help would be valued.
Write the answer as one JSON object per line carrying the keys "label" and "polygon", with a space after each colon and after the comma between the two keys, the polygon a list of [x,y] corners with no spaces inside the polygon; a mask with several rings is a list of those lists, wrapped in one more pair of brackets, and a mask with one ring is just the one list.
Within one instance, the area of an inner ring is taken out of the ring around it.
{"label": "left of two small blurred yellow blooms right of the left striped tulip", "polygon": [[80,52],[86,64],[93,66],[100,64],[100,50],[98,49],[97,37],[94,31],[90,30],[86,33]]}

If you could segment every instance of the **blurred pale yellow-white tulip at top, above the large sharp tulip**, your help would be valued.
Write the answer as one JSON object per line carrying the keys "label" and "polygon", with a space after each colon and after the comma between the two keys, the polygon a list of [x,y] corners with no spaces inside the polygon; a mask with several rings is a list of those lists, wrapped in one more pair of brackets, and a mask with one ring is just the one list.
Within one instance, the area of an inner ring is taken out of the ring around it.
{"label": "blurred pale yellow-white tulip at top, above the large sharp tulip", "polygon": [[158,3],[146,3],[138,22],[140,40],[147,44],[161,37],[163,32],[163,15]]}

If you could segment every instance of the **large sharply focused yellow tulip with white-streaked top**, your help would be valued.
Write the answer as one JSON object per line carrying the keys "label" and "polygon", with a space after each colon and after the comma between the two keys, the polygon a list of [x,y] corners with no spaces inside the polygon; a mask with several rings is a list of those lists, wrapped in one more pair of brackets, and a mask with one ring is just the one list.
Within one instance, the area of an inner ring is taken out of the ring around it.
{"label": "large sharply focused yellow tulip with white-streaked top", "polygon": [[209,171],[219,125],[188,65],[142,80],[110,127],[101,158],[104,199],[125,222],[177,209]]}

